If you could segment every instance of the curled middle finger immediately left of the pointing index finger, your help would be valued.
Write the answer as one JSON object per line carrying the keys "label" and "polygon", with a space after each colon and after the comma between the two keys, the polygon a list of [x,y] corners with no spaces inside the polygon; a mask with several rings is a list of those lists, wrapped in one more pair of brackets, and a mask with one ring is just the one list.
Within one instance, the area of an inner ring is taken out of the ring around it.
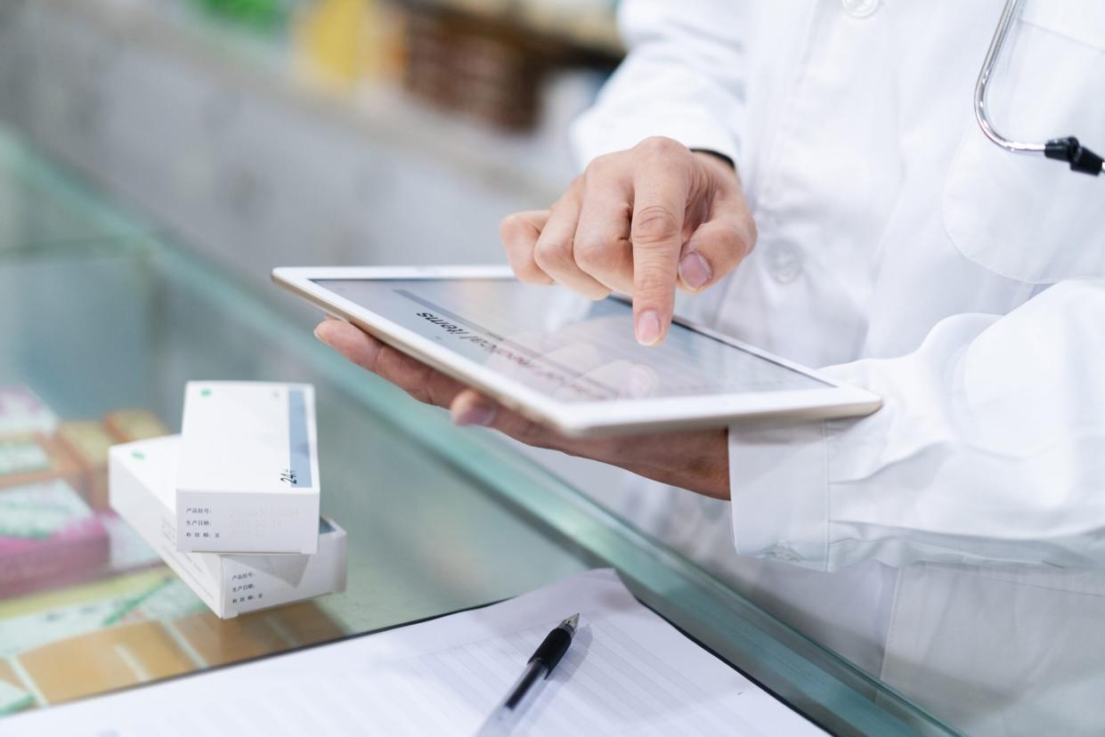
{"label": "curled middle finger immediately left of the pointing index finger", "polygon": [[618,158],[600,157],[587,169],[583,200],[576,225],[576,263],[611,289],[633,289],[630,222],[632,181]]}

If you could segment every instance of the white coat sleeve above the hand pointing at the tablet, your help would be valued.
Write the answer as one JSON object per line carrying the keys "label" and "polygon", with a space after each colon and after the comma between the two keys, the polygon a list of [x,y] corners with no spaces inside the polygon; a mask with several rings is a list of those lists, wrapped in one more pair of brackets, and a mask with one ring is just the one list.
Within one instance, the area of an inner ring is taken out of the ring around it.
{"label": "white coat sleeve above the hand pointing at the tablet", "polygon": [[739,0],[623,0],[629,54],[572,126],[581,166],[650,136],[738,160],[746,13]]}

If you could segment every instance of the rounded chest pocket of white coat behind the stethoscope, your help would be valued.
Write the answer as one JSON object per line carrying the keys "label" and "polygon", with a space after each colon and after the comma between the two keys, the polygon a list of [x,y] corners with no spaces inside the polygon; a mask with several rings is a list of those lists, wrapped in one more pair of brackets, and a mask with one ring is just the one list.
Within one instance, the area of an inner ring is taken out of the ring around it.
{"label": "rounded chest pocket of white coat behind the stethoscope", "polygon": [[[991,77],[997,130],[1105,151],[1105,3],[1029,2]],[[944,225],[968,260],[1019,282],[1105,276],[1105,176],[1007,151],[965,116],[944,187]]]}

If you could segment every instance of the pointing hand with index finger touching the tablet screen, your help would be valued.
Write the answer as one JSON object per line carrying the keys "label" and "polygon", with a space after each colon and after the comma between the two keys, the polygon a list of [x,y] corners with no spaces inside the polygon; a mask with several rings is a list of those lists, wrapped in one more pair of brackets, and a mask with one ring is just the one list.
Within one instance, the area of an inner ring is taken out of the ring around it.
{"label": "pointing hand with index finger touching the tablet screen", "polygon": [[549,210],[519,212],[499,228],[514,273],[562,284],[592,299],[633,296],[638,343],[667,335],[675,287],[701,292],[756,243],[733,168],[670,138],[600,156]]}

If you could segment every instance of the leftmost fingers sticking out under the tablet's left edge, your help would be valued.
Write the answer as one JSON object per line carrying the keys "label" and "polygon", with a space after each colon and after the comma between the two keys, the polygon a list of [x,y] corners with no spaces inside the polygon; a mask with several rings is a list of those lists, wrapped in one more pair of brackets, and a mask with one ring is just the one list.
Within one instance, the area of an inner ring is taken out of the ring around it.
{"label": "leftmost fingers sticking out under the tablet's left edge", "polygon": [[464,385],[418,359],[386,346],[355,325],[324,320],[315,336],[361,368],[428,404],[449,407]]}

